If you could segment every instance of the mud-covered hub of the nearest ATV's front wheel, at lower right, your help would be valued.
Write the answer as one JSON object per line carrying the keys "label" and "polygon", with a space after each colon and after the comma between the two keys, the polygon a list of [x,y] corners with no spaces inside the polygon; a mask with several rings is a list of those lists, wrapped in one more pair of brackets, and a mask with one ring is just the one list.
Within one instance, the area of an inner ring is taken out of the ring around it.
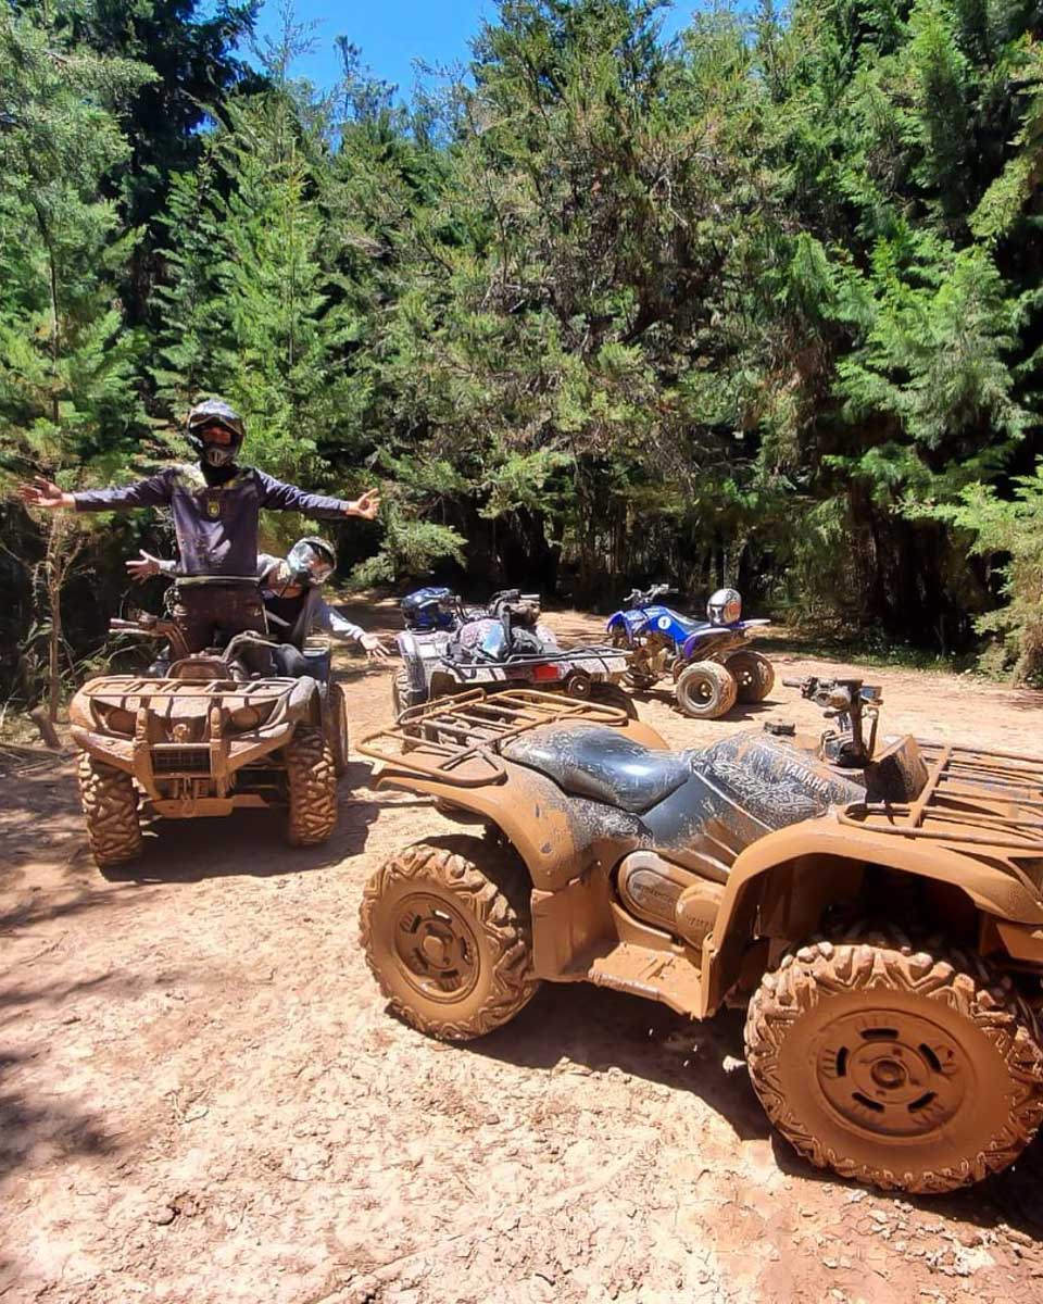
{"label": "mud-covered hub of the nearest ATV's front wheel, at lower right", "polygon": [[815,1051],[819,1088],[846,1123],[922,1137],[948,1123],[973,1081],[970,1056],[932,1020],[862,1011],[833,1020]]}

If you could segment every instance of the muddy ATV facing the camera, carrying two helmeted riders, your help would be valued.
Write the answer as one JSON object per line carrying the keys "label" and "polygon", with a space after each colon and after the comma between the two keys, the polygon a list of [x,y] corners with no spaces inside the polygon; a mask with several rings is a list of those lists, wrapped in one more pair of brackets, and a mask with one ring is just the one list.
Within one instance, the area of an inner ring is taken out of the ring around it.
{"label": "muddy ATV facing the camera, carrying two helmeted riders", "polygon": [[[194,578],[179,585],[180,601],[229,582],[257,583]],[[283,806],[291,845],[329,838],[348,747],[343,692],[322,678],[329,647],[309,640],[313,673],[287,678],[270,672],[271,640],[254,631],[193,652],[169,618],[112,621],[111,629],[166,640],[172,660],[156,662],[160,678],[107,674],[72,700],[80,797],[100,868],[140,854],[145,812],[196,819]]]}

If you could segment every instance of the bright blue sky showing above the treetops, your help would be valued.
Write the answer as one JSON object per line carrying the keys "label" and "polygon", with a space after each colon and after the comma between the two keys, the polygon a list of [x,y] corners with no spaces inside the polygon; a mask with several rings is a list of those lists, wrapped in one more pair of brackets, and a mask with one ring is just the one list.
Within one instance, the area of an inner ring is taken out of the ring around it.
{"label": "bright blue sky showing above the treetops", "polygon": [[[675,0],[665,9],[664,34],[671,37],[683,27],[692,8],[692,0]],[[429,64],[465,61],[468,42],[482,20],[494,17],[495,12],[493,0],[379,0],[345,5],[295,0],[296,21],[317,26],[314,52],[300,59],[293,72],[319,87],[331,86],[340,76],[334,38],[343,35],[361,48],[362,61],[377,77],[395,82],[402,98],[408,99],[415,81],[413,60]],[[258,35],[275,35],[279,25],[278,0],[265,0]]]}

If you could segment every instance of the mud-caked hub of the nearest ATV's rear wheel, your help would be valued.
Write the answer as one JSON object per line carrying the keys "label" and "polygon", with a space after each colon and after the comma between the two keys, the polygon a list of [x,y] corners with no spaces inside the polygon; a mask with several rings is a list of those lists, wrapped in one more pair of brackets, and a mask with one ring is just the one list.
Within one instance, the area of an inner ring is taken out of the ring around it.
{"label": "mud-caked hub of the nearest ATV's rear wheel", "polygon": [[464,915],[426,892],[405,897],[395,919],[395,958],[409,985],[435,1000],[460,1000],[478,977],[478,948]]}

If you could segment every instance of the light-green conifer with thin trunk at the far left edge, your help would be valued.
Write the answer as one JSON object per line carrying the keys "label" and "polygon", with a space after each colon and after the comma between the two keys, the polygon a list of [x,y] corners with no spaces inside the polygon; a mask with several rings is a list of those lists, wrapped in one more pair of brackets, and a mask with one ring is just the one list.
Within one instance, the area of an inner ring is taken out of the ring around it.
{"label": "light-green conifer with thin trunk at the far left edge", "polygon": [[[0,10],[0,438],[8,471],[33,468],[65,488],[121,468],[142,428],[136,340],[113,289],[133,233],[98,193],[128,153],[116,106],[150,76]],[[87,527],[60,516],[40,528],[37,629],[47,639],[53,720],[61,596]],[[35,675],[26,679],[33,694]]]}

